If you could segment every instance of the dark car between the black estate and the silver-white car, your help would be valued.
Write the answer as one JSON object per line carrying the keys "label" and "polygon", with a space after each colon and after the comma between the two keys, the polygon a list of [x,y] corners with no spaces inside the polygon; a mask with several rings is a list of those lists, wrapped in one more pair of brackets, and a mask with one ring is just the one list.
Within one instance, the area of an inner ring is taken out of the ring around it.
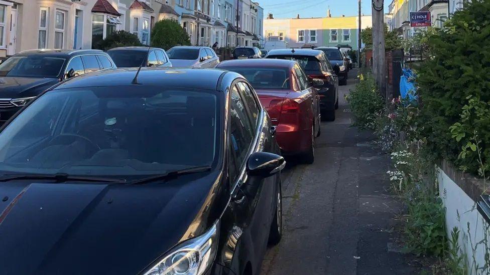
{"label": "dark car between the black estate and the silver-white car", "polygon": [[167,53],[160,48],[119,47],[108,50],[107,54],[118,68],[172,67]]}

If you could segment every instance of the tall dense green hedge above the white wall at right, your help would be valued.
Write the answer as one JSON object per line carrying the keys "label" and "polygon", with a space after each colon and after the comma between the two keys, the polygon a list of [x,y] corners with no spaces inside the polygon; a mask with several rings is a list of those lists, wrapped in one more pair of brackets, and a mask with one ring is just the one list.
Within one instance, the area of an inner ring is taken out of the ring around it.
{"label": "tall dense green hedge above the white wall at right", "polygon": [[422,136],[438,157],[473,173],[490,161],[489,23],[490,2],[468,2],[428,35],[431,58],[417,79]]}

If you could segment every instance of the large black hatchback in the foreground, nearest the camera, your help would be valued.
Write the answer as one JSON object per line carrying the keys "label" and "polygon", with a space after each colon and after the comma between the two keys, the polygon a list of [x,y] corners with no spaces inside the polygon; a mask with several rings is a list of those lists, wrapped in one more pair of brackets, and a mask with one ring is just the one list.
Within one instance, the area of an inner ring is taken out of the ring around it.
{"label": "large black hatchback in the foreground, nearest the camera", "polygon": [[282,232],[271,122],[221,70],[77,77],[0,131],[2,274],[258,274]]}

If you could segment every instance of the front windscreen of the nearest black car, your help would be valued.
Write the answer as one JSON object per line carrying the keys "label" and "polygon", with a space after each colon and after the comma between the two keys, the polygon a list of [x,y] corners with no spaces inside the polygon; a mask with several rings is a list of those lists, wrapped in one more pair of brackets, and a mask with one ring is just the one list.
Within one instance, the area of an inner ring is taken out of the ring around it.
{"label": "front windscreen of the nearest black car", "polygon": [[45,93],[0,132],[0,174],[130,178],[212,165],[216,95],[147,85]]}

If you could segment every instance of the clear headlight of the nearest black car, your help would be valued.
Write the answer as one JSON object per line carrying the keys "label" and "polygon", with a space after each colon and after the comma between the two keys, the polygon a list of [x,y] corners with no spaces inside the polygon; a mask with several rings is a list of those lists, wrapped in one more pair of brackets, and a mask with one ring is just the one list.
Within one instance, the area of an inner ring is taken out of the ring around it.
{"label": "clear headlight of the nearest black car", "polygon": [[177,245],[144,275],[201,275],[211,265],[218,246],[216,221],[204,234]]}

